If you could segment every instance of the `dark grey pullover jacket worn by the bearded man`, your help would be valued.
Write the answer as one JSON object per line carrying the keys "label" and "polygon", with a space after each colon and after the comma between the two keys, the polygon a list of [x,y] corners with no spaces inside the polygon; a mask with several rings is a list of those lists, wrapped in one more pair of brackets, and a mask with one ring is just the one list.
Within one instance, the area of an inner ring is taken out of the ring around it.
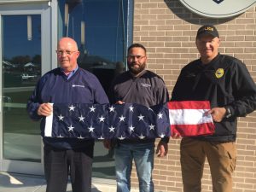
{"label": "dark grey pullover jacket worn by the bearded man", "polygon": [[[144,70],[139,77],[135,78],[127,71],[114,79],[110,101],[112,103],[132,102],[151,107],[168,102],[169,95],[165,82],[157,74]],[[162,138],[161,141],[168,143],[169,138]],[[121,143],[154,143],[154,139],[129,140]]]}

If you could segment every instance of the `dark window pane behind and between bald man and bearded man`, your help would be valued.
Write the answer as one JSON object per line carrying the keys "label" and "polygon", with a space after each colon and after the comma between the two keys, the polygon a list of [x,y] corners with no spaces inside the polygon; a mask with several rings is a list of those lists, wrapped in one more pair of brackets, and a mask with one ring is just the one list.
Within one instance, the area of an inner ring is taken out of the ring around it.
{"label": "dark window pane behind and between bald man and bearded man", "polygon": [[125,66],[127,6],[123,0],[60,1],[59,38],[77,41],[79,67],[96,74],[107,92],[116,67]]}

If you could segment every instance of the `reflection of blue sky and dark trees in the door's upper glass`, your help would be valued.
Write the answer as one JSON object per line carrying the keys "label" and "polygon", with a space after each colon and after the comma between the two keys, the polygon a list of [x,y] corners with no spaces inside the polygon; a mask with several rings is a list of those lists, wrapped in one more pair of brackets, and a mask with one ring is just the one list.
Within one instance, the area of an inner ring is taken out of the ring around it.
{"label": "reflection of blue sky and dark trees in the door's upper glass", "polygon": [[38,46],[41,44],[40,20],[40,15],[3,17],[4,88],[34,86],[40,78],[41,47]]}

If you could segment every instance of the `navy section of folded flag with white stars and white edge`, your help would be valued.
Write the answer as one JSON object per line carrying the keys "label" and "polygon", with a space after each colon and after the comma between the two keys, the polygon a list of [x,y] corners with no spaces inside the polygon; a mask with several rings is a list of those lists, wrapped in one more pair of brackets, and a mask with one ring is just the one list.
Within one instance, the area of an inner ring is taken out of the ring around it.
{"label": "navy section of folded flag with white stars and white edge", "polygon": [[[44,137],[99,140],[170,137],[170,105],[172,102],[151,108],[136,103],[55,103],[52,115],[45,120]],[[200,134],[206,135],[203,131]]]}

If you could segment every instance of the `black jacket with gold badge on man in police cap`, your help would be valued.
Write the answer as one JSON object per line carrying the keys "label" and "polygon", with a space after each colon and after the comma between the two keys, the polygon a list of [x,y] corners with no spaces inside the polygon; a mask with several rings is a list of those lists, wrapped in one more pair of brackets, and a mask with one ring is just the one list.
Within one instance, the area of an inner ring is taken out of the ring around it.
{"label": "black jacket with gold badge on man in police cap", "polygon": [[207,65],[195,60],[183,67],[172,91],[172,101],[209,101],[211,108],[228,106],[232,116],[215,123],[215,134],[196,138],[232,142],[236,140],[236,118],[256,108],[256,86],[245,64],[218,54]]}

